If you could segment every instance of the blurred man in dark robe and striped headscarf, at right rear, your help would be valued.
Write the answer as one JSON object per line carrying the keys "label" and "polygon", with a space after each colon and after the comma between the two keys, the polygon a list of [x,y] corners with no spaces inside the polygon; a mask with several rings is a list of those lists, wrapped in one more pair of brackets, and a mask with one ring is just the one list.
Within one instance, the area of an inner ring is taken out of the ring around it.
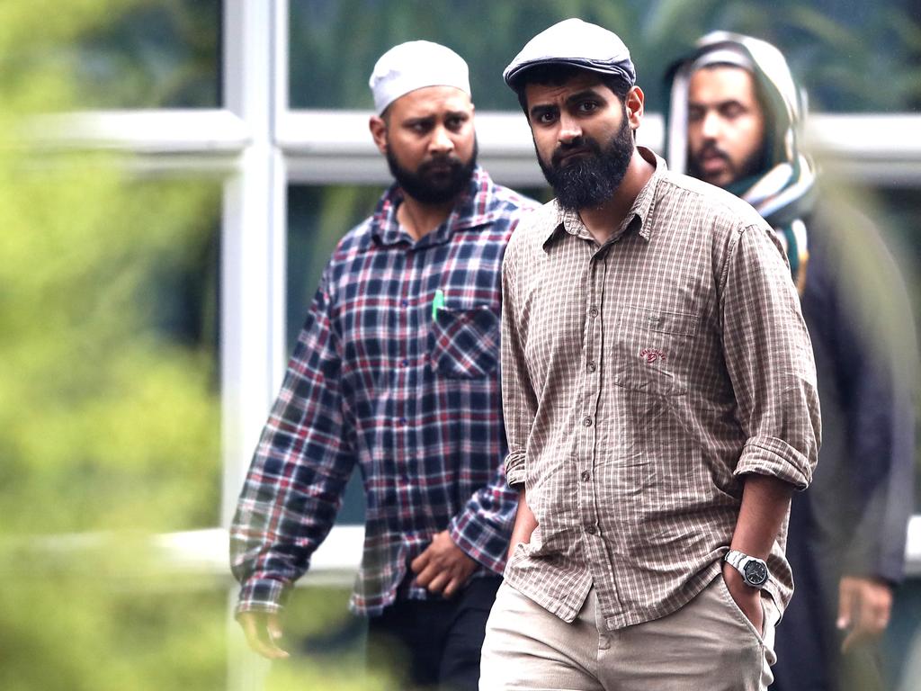
{"label": "blurred man in dark robe and striped headscarf, at right rear", "polygon": [[868,222],[825,194],[817,204],[800,142],[805,94],[774,46],[717,31],[669,78],[670,170],[737,194],[775,228],[815,351],[824,439],[812,486],[793,498],[797,589],[772,688],[882,688],[875,642],[903,577],[914,486],[904,287]]}

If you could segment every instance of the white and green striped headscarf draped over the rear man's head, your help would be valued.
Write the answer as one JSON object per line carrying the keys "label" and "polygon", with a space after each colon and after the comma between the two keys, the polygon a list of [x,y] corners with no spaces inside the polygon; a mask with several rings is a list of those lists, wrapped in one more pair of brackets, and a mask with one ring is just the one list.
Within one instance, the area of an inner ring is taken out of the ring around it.
{"label": "white and green striped headscarf draped over the rear man's head", "polygon": [[802,292],[809,260],[809,242],[803,218],[814,197],[815,166],[800,149],[806,114],[806,94],[800,89],[787,60],[773,45],[750,36],[714,31],[697,41],[696,50],[670,69],[669,109],[666,113],[666,160],[670,170],[687,171],[688,88],[701,67],[729,64],[755,76],[765,121],[770,131],[764,141],[764,171],[735,182],[735,193],[758,210],[775,229],[787,252],[793,278]]}

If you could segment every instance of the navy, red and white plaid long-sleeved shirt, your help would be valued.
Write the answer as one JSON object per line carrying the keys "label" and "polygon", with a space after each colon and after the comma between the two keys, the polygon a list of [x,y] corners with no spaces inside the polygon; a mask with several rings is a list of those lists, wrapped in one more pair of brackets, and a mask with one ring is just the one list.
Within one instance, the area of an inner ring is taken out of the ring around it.
{"label": "navy, red and white plaid long-sleeved shirt", "polygon": [[477,169],[449,219],[414,241],[396,220],[401,195],[383,195],[322,276],[231,527],[239,610],[284,603],[356,463],[367,495],[357,613],[392,603],[446,529],[480,575],[505,566],[518,498],[502,468],[500,273],[535,205]]}

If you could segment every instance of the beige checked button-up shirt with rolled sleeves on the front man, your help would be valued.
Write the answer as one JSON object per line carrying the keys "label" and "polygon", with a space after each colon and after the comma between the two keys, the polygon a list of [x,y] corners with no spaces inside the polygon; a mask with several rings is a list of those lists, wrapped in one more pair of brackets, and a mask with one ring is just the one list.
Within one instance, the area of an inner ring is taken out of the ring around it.
{"label": "beige checked button-up shirt with rolled sleeves on the front man", "polygon": [[[720,571],[744,474],[809,485],[821,437],[809,334],[751,206],[656,166],[599,246],[555,202],[503,266],[511,485],[538,528],[509,583],[572,621],[592,584],[609,629],[668,615]],[[768,565],[783,610],[786,522]]]}

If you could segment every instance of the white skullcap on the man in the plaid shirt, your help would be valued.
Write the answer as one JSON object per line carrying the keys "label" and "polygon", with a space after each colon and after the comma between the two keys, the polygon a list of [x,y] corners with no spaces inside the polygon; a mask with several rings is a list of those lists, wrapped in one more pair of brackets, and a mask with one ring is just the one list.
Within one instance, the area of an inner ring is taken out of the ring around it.
{"label": "white skullcap on the man in the plaid shirt", "polygon": [[417,88],[454,87],[472,95],[467,63],[450,48],[431,41],[408,41],[391,48],[374,65],[367,85],[379,115]]}

